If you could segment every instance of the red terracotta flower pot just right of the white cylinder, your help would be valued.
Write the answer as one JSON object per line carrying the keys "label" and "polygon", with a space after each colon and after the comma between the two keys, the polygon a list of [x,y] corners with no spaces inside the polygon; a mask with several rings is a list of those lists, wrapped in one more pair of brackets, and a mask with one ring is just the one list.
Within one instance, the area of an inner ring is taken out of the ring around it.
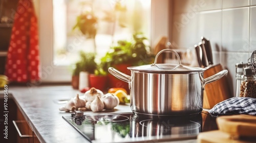
{"label": "red terracotta flower pot just right of the white cylinder", "polygon": [[90,87],[94,87],[96,89],[99,89],[101,91],[106,90],[106,81],[108,77],[107,76],[95,76],[93,74],[89,75],[89,83]]}

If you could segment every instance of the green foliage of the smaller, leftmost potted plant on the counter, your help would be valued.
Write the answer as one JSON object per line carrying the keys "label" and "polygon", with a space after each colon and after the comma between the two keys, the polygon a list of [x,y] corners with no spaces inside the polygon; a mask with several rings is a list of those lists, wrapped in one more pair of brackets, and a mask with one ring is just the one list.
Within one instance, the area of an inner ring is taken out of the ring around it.
{"label": "green foliage of the smaller, leftmost potted plant on the counter", "polygon": [[80,60],[75,63],[72,75],[78,76],[80,71],[88,71],[90,74],[93,74],[97,68],[95,55],[95,53],[80,51]]}

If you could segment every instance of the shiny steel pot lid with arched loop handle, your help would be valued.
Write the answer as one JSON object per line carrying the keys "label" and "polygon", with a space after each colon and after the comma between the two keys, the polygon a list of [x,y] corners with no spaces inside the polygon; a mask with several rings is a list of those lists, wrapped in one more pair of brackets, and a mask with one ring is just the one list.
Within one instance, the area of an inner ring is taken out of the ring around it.
{"label": "shiny steel pot lid with arched loop handle", "polygon": [[[178,57],[178,64],[169,64],[169,63],[161,63],[157,64],[157,58],[162,52],[170,51],[173,52]],[[155,62],[153,64],[141,65],[141,66],[131,66],[127,67],[130,70],[137,70],[146,73],[168,73],[168,74],[185,74],[185,73],[195,73],[200,71],[205,71],[205,68],[201,67],[191,67],[185,66],[180,63],[180,56],[173,50],[164,49],[160,51],[155,58]]]}

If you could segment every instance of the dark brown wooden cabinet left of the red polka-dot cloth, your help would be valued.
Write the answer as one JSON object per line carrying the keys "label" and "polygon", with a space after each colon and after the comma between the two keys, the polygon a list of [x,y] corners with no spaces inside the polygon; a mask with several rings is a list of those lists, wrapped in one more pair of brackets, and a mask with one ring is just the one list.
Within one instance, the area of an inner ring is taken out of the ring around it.
{"label": "dark brown wooden cabinet left of the red polka-dot cloth", "polygon": [[0,75],[3,75],[5,71],[5,62],[17,3],[18,0],[0,0]]}

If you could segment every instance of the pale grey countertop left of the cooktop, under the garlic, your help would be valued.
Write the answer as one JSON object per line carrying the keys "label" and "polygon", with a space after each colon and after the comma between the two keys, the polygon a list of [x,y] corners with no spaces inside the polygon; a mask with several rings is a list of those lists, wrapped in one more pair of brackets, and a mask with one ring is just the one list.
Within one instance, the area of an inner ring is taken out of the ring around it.
{"label": "pale grey countertop left of the cooktop, under the garlic", "polygon": [[[71,86],[9,86],[14,101],[22,111],[29,126],[35,132],[40,142],[89,142],[62,116],[71,113],[59,111],[58,100],[71,99],[79,93]],[[118,105],[113,113],[132,112],[129,105]],[[100,112],[104,113],[104,112]],[[99,114],[86,111],[84,114]]]}

